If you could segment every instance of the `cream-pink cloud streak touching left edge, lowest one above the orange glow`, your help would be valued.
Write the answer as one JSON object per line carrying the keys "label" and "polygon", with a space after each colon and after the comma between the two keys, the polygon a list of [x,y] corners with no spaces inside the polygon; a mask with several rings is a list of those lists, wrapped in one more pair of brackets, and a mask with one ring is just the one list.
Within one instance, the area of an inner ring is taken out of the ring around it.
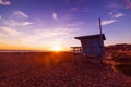
{"label": "cream-pink cloud streak touching left edge, lowest one above the orange glow", "polygon": [[16,29],[14,28],[10,28],[10,27],[4,27],[4,26],[1,26],[0,27],[0,32],[1,34],[3,34],[4,36],[17,36],[17,35],[22,35],[23,33],[21,32],[17,32]]}

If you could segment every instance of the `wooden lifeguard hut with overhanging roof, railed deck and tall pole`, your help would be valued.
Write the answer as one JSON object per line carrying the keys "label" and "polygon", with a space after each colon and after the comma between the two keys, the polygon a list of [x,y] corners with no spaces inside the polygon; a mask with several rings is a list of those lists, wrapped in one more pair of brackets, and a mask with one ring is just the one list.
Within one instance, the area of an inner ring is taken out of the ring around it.
{"label": "wooden lifeguard hut with overhanging roof, railed deck and tall pole", "polygon": [[92,63],[102,62],[102,59],[105,55],[104,40],[106,40],[106,37],[102,33],[100,18],[99,18],[99,34],[79,36],[74,38],[79,39],[82,46],[82,47],[71,47],[74,54],[79,53],[86,61],[90,61]]}

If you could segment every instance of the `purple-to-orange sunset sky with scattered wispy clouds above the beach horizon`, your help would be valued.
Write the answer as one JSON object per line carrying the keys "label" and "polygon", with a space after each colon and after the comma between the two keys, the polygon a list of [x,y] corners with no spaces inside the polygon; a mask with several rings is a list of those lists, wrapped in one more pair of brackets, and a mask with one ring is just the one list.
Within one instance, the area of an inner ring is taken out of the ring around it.
{"label": "purple-to-orange sunset sky with scattered wispy clouds above the beach horizon", "polygon": [[105,46],[131,44],[131,0],[0,0],[0,49],[62,50],[99,33]]}

